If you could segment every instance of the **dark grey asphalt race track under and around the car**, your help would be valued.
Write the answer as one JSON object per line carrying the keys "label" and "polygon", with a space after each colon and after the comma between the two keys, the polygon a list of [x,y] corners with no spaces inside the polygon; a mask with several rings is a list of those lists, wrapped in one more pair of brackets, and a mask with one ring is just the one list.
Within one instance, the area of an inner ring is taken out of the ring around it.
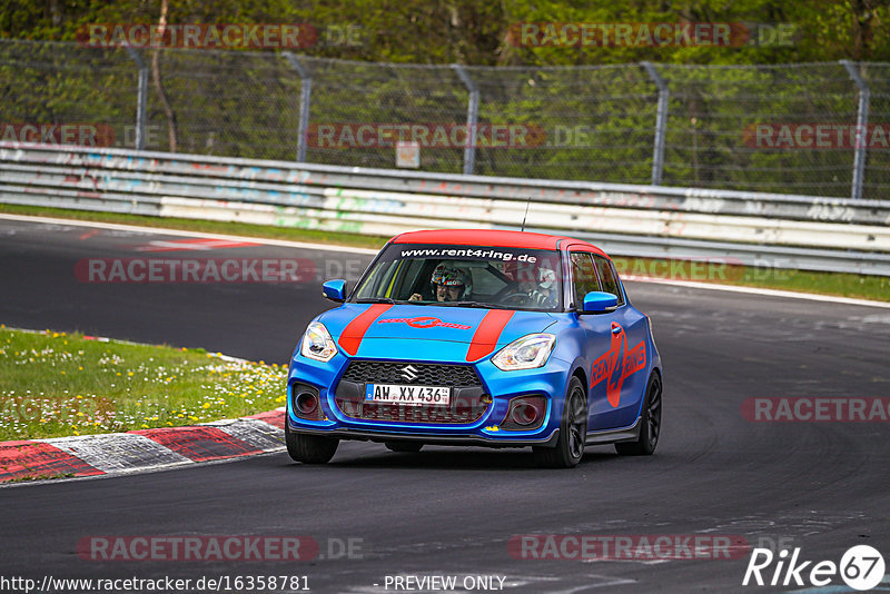
{"label": "dark grey asphalt race track under and around the car", "polygon": [[[181,237],[0,220],[0,321],[284,363],[306,323],[330,306],[316,280],[87,284],[75,277],[80,259],[141,257],[147,254],[137,248],[160,239]],[[268,246],[199,254],[208,255],[310,258],[319,277],[355,273],[368,260]],[[315,592],[354,593],[386,592],[387,575],[497,575],[506,577],[505,591],[523,593],[792,590],[742,587],[750,555],[515,558],[507,543],[524,534],[731,535],[835,563],[850,546],[869,544],[890,561],[890,423],[751,423],[741,414],[743,400],[761,396],[887,397],[890,311],[652,284],[627,288],[653,319],[665,367],[665,427],[652,457],[596,447],[574,471],[543,471],[521,451],[394,454],[345,443],[323,467],[281,454],[0,488],[0,575],[286,574],[306,575]],[[97,562],[76,553],[90,535],[231,534],[310,536],[325,558]],[[337,555],[328,548],[337,553],[348,538],[360,543],[360,553],[329,558]],[[839,591],[848,590],[825,590]]]}

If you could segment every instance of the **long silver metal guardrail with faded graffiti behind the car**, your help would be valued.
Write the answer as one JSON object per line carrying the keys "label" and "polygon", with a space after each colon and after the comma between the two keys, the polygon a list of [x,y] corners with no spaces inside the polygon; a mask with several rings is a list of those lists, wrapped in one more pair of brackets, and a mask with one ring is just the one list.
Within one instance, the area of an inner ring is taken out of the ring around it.
{"label": "long silver metal guardrail with faded graffiti behind the car", "polygon": [[0,142],[0,201],[370,235],[518,228],[622,256],[890,276],[890,201]]}

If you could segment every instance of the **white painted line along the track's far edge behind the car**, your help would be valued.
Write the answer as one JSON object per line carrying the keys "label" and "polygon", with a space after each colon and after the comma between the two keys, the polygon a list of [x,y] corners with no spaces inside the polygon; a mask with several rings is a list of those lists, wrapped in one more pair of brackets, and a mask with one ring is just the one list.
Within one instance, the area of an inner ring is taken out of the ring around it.
{"label": "white painted line along the track's far edge behind the car", "polygon": [[[224,239],[235,241],[253,241],[265,246],[291,247],[301,249],[315,249],[323,251],[340,251],[347,254],[367,254],[374,256],[378,250],[347,246],[334,246],[328,244],[309,244],[304,241],[288,241],[285,239],[266,239],[263,237],[248,237],[238,235],[207,234],[201,231],[187,231],[182,229],[166,229],[161,227],[139,227],[137,225],[120,225],[117,222],[93,222],[76,219],[57,219],[50,217],[34,217],[29,215],[10,215],[0,212],[0,219],[20,220],[26,222],[44,222],[49,225],[70,225],[75,227],[93,227],[97,229],[140,231],[155,235],[178,235],[182,237],[205,237],[209,239]],[[694,283],[690,280],[670,280],[646,277],[622,277],[624,280],[633,283],[656,283],[661,285],[673,285],[692,289],[724,290],[730,293],[743,293],[748,295],[760,295],[763,297],[784,297],[789,299],[804,299],[809,301],[829,301],[833,304],[859,305],[866,307],[881,307],[890,309],[890,303],[870,301],[868,299],[852,299],[849,297],[833,297],[831,295],[817,295],[810,293],[797,293],[792,290],[763,289],[758,287],[740,287],[734,285],[716,285],[712,283]]]}

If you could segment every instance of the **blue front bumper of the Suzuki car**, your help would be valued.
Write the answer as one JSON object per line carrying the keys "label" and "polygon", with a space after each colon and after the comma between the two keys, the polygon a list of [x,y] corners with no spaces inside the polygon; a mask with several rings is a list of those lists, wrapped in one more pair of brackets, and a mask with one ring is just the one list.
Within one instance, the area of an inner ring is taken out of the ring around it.
{"label": "blue front bumper of the Suzuki car", "polygon": [[[324,435],[339,439],[363,440],[422,440],[436,445],[482,445],[488,447],[552,446],[558,437],[563,398],[570,373],[570,365],[551,357],[544,367],[520,372],[502,372],[491,360],[478,362],[473,367],[482,382],[481,388],[472,392],[455,389],[453,394],[473,394],[484,398],[487,404],[478,415],[471,415],[469,422],[462,418],[447,418],[437,422],[436,415],[421,417],[416,423],[416,407],[405,406],[407,415],[389,415],[387,419],[356,418],[344,412],[344,398],[354,398],[356,387],[342,382],[346,366],[352,359],[342,354],[327,364],[313,362],[297,355],[291,363],[288,376],[287,423],[293,433]],[[399,364],[442,364],[443,362],[374,359]],[[300,418],[294,412],[293,388],[309,386],[318,393],[323,418],[317,420]],[[364,393],[364,389],[360,390]],[[521,396],[541,396],[546,410],[543,422],[528,430],[516,430],[515,425],[505,424],[511,400]],[[392,405],[395,408],[397,405]],[[352,409],[348,409],[352,410]],[[504,427],[502,427],[504,425]]]}

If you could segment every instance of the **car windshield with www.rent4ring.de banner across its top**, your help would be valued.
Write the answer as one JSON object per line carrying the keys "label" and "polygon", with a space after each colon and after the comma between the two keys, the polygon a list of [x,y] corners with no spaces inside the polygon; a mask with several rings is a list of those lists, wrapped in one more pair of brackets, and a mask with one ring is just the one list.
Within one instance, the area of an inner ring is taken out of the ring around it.
{"label": "car windshield with www.rent4ring.de banner across its top", "polygon": [[392,244],[352,300],[556,311],[558,270],[555,250]]}

